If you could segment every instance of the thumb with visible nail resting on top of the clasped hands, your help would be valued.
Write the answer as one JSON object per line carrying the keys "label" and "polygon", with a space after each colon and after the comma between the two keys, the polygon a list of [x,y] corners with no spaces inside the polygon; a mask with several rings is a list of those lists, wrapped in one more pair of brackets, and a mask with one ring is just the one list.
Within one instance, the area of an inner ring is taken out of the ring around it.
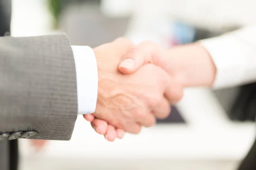
{"label": "thumb with visible nail resting on top of the clasped hands", "polygon": [[147,63],[160,66],[158,61],[163,60],[164,57],[164,48],[154,42],[142,42],[127,51],[119,64],[119,71],[123,74],[132,74]]}

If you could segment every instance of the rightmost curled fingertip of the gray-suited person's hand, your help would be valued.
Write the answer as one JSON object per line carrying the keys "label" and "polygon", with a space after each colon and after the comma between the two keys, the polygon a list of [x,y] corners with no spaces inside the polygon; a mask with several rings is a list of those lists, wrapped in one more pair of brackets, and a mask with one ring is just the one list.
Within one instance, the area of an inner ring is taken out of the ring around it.
{"label": "rightmost curled fingertip of the gray-suited person's hand", "polygon": [[176,104],[183,97],[183,86],[177,82],[171,82],[170,85],[166,88],[165,94],[166,98],[169,100],[169,103]]}

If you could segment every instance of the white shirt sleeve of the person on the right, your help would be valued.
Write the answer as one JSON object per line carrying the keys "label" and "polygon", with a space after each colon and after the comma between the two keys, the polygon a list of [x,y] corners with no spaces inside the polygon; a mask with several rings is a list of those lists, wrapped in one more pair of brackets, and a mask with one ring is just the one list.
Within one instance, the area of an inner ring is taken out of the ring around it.
{"label": "white shirt sleeve of the person on the right", "polygon": [[214,88],[256,82],[256,26],[202,40],[217,68]]}

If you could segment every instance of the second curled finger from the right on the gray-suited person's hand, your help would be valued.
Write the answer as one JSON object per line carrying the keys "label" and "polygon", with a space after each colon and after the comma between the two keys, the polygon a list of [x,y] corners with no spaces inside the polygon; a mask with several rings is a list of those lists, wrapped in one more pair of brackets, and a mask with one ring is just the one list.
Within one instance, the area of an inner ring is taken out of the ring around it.
{"label": "second curled finger from the right on the gray-suited person's hand", "polygon": [[152,110],[152,113],[158,119],[165,119],[171,113],[171,104],[165,97],[163,97],[159,104]]}

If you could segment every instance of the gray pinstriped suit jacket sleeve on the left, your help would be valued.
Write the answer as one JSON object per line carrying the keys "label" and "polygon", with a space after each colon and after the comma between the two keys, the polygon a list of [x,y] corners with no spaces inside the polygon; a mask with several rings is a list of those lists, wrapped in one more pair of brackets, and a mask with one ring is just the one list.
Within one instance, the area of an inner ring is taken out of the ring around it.
{"label": "gray pinstriped suit jacket sleeve on the left", "polygon": [[76,68],[65,34],[0,37],[0,134],[69,140],[77,118]]}

